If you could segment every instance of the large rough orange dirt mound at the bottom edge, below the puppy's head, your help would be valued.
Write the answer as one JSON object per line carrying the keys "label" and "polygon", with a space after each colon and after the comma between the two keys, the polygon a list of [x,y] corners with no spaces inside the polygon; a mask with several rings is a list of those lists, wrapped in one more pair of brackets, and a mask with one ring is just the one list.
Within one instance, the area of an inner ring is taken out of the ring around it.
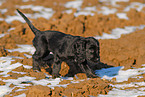
{"label": "large rough orange dirt mound at the bottom edge, below the puppy's head", "polygon": [[107,94],[112,87],[100,78],[90,79],[82,81],[80,83],[70,84],[65,90],[64,94],[66,96],[97,96],[98,94]]}

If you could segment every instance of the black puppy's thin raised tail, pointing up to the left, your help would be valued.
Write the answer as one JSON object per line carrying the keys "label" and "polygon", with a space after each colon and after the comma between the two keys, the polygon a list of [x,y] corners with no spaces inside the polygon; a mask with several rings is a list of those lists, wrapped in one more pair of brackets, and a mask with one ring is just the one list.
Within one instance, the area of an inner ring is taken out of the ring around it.
{"label": "black puppy's thin raised tail, pointing up to the left", "polygon": [[24,20],[26,21],[26,23],[28,24],[28,26],[30,27],[30,29],[35,35],[38,35],[41,33],[41,31],[35,28],[34,25],[30,22],[30,20],[21,11],[19,11],[18,9],[17,11],[24,18]]}

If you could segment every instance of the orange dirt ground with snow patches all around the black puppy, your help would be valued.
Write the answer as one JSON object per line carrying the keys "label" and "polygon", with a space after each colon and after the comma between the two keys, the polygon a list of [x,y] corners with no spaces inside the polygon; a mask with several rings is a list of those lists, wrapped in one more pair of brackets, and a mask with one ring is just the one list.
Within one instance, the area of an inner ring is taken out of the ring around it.
{"label": "orange dirt ground with snow patches all around the black puppy", "polygon": [[[95,37],[101,62],[114,67],[52,79],[42,68],[33,72],[34,34],[18,15],[20,9],[40,30]],[[0,96],[4,97],[144,97],[144,0],[1,0]],[[110,74],[110,75],[109,75]]]}

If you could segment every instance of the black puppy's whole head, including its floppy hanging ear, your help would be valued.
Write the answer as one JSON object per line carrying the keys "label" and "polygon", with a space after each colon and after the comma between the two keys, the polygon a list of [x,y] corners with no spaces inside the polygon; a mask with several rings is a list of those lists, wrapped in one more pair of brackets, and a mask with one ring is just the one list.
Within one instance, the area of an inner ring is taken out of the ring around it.
{"label": "black puppy's whole head, including its floppy hanging ear", "polygon": [[79,63],[86,60],[92,63],[100,62],[100,48],[98,40],[93,37],[82,38],[74,44],[74,54]]}

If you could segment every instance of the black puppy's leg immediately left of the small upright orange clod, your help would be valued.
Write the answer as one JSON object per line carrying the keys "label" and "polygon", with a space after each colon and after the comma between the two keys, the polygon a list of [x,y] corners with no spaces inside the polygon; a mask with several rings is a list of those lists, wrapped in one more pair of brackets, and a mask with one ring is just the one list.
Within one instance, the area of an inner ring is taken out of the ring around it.
{"label": "black puppy's leg immediately left of the small upright orange clod", "polygon": [[52,71],[52,78],[59,77],[59,71],[61,69],[62,61],[59,59],[57,55],[54,55],[54,63],[53,63],[53,71]]}

